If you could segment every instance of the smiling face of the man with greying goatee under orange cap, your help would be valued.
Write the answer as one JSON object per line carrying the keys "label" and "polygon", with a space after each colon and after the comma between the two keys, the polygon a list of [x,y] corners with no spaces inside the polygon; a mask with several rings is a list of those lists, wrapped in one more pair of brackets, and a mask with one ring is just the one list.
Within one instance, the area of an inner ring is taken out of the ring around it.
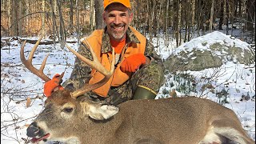
{"label": "smiling face of the man with greying goatee under orange cap", "polygon": [[120,3],[110,4],[103,15],[110,38],[115,41],[121,41],[125,38],[126,30],[132,21],[132,17],[133,14],[129,12],[126,6]]}

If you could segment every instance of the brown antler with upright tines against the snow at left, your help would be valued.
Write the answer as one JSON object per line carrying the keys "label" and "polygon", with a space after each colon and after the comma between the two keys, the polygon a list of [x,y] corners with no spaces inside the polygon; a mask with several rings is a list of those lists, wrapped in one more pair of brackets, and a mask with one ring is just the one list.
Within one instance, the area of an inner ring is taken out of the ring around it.
{"label": "brown antler with upright tines against the snow at left", "polygon": [[40,37],[38,39],[38,42],[36,42],[36,44],[32,48],[32,50],[30,52],[30,55],[29,55],[29,58],[27,60],[26,60],[25,55],[24,55],[24,47],[25,47],[25,44],[26,44],[26,41],[24,41],[23,44],[22,44],[22,47],[21,47],[20,57],[21,57],[21,61],[22,61],[23,65],[26,66],[26,68],[28,70],[30,70],[33,74],[37,75],[39,78],[42,78],[42,80],[44,80],[45,82],[48,82],[48,81],[50,81],[50,78],[48,78],[46,76],[46,74],[43,74],[43,69],[46,66],[46,59],[48,58],[49,54],[46,55],[46,58],[43,60],[42,66],[40,66],[39,70],[34,68],[34,66],[32,65],[32,59],[33,59],[34,51],[37,49],[41,39],[42,39],[42,37]]}

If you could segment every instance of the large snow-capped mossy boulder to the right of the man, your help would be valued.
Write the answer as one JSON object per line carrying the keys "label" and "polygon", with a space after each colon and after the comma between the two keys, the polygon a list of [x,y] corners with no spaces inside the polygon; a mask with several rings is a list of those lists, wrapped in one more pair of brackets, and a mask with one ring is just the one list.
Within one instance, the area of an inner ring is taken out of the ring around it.
{"label": "large snow-capped mossy boulder to the right of the man", "polygon": [[170,72],[199,71],[220,67],[226,62],[250,65],[254,59],[254,49],[249,44],[214,31],[182,44],[166,58],[164,64]]}

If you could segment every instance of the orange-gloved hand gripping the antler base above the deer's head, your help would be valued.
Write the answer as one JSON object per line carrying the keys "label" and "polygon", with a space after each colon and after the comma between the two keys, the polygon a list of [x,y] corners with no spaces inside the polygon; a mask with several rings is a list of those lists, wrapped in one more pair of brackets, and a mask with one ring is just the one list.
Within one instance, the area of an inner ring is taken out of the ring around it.
{"label": "orange-gloved hand gripping the antler base above the deer's head", "polygon": [[43,86],[43,94],[45,94],[47,98],[50,97],[51,93],[56,90],[64,90],[64,88],[60,85],[62,83],[62,79],[59,78],[60,76],[60,74],[55,74],[54,78],[46,82]]}

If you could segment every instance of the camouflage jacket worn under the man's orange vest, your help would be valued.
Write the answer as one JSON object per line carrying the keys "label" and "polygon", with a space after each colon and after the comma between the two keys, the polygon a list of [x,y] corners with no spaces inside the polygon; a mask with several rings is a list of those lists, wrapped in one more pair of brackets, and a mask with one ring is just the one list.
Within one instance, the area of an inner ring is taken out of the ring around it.
{"label": "camouflage jacket worn under the man's orange vest", "polygon": [[[130,29],[128,29],[126,32],[126,42],[139,42],[138,38],[136,38]],[[106,28],[102,35],[102,47],[106,49],[102,50],[102,52],[108,52],[112,50],[109,35],[106,33]],[[78,53],[82,54],[86,58],[92,59],[90,51],[86,46],[82,44],[82,42],[78,48]],[[148,42],[148,40],[146,40],[145,55],[151,59],[150,63],[158,63],[158,65],[163,66],[162,58],[156,54],[153,44]],[[74,69],[70,75],[70,78],[63,82],[62,86],[64,86],[67,90],[78,90],[86,83],[89,83],[91,78],[90,72],[90,66],[87,66],[85,62],[80,61],[79,58],[76,58],[74,62]]]}

